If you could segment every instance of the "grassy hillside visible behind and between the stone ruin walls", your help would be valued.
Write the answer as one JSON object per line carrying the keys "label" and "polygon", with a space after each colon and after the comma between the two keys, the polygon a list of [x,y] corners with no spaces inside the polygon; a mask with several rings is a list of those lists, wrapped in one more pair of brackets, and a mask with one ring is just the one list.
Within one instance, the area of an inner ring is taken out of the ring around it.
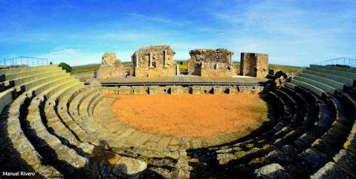
{"label": "grassy hillside visible behind and between the stone ruin walls", "polygon": [[[187,60],[177,60],[175,61],[177,64],[179,64],[179,69],[181,72],[187,71],[188,65],[187,65]],[[182,65],[180,63],[182,62]],[[131,62],[123,62],[122,63],[127,70],[130,69],[131,67]],[[235,68],[237,72],[240,71],[240,63],[234,63]],[[99,70],[100,64],[95,64],[95,65],[80,65],[80,66],[74,66],[73,69],[78,72],[78,73],[93,73],[94,70]],[[283,72],[297,72],[300,70],[302,67],[295,67],[295,66],[289,66],[289,65],[276,65],[276,64],[268,64],[268,70],[282,70]]]}

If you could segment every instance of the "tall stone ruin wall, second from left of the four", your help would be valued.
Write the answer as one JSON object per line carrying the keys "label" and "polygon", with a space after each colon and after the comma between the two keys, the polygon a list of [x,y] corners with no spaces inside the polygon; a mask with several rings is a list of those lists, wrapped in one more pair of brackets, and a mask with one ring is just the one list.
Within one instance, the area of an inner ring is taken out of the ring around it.
{"label": "tall stone ruin wall, second from left of the four", "polygon": [[176,75],[175,52],[169,45],[140,48],[131,56],[135,77],[169,77]]}

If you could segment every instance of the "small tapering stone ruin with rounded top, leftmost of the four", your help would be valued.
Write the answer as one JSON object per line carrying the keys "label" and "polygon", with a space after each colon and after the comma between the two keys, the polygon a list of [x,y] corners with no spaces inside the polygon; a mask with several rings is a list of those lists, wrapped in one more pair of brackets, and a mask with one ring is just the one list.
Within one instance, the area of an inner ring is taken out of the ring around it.
{"label": "small tapering stone ruin with rounded top, leftmost of the four", "polygon": [[125,75],[126,70],[121,60],[116,58],[115,53],[104,53],[98,70],[98,78],[110,78]]}

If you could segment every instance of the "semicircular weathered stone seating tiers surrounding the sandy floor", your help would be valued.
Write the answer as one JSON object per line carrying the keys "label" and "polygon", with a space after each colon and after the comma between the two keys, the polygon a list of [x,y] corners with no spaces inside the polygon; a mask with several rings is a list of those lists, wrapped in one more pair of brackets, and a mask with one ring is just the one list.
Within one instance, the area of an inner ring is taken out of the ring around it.
{"label": "semicircular weathered stone seating tiers surrounding the sandy floor", "polygon": [[[310,65],[271,89],[268,119],[211,139],[115,121],[100,86],[61,67],[0,70],[1,171],[44,178],[355,178],[356,70]],[[266,172],[268,170],[268,172]]]}

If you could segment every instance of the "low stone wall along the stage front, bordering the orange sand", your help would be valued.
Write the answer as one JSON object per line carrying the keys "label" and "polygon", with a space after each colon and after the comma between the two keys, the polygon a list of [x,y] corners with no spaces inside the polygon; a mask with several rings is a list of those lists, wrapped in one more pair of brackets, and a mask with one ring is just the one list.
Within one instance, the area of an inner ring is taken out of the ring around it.
{"label": "low stone wall along the stage front, bordering the orange sand", "polygon": [[105,94],[253,94],[264,93],[268,90],[263,86],[120,86],[120,87],[103,87],[102,92]]}

